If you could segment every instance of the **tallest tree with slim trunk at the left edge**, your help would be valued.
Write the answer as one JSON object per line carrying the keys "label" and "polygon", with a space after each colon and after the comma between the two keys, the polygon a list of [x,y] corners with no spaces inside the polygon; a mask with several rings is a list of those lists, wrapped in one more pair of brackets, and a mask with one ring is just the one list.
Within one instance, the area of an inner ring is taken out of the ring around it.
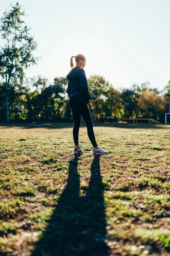
{"label": "tallest tree with slim trunk at the left edge", "polygon": [[8,122],[8,88],[14,83],[22,84],[24,70],[32,64],[37,64],[33,51],[37,43],[30,35],[28,27],[22,18],[25,12],[17,3],[11,5],[9,11],[3,13],[1,18],[0,32],[4,46],[0,49],[0,76],[6,84],[6,119]]}

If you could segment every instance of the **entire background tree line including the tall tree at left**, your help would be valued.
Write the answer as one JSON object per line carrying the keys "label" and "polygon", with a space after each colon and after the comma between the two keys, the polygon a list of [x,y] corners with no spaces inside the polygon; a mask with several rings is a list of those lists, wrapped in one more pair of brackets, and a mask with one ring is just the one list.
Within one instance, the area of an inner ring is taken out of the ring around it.
{"label": "entire background tree line including the tall tree at left", "polygon": [[[42,76],[26,78],[26,69],[37,64],[38,58],[34,57],[37,43],[24,16],[17,3],[1,18],[0,120],[69,122],[72,115],[67,78],[56,77],[52,84]],[[165,113],[169,113],[170,81],[161,91],[151,88],[148,82],[116,90],[103,76],[92,75],[88,87],[88,106],[96,122],[105,122],[106,117],[154,118],[164,122]]]}

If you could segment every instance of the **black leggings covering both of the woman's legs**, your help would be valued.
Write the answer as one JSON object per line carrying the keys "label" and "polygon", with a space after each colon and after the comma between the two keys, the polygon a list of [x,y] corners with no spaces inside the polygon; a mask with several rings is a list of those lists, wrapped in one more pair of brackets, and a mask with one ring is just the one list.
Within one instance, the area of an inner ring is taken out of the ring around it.
{"label": "black leggings covering both of the woman's legs", "polygon": [[93,122],[92,122],[91,113],[88,108],[88,105],[86,104],[86,102],[78,100],[74,97],[71,97],[68,100],[68,105],[71,108],[73,119],[74,119],[74,127],[73,127],[74,144],[79,145],[79,128],[81,125],[81,117],[82,117],[87,126],[88,137],[91,141],[91,144],[93,145],[93,147],[96,147],[97,143],[94,136]]}

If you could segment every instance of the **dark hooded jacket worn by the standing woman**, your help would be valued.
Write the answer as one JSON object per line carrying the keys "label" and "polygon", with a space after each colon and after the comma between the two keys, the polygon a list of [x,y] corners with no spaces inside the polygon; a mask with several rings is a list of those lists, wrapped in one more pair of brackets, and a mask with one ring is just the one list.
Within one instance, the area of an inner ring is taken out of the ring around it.
{"label": "dark hooded jacket worn by the standing woman", "polygon": [[74,67],[67,75],[67,78],[68,95],[88,103],[91,99],[91,95],[88,92],[88,82],[85,76],[85,70],[81,67]]}

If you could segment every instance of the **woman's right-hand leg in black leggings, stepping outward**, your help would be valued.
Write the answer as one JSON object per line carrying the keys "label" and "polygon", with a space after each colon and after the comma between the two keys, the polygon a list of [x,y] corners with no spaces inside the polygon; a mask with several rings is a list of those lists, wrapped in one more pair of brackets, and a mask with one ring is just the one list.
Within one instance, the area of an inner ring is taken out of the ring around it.
{"label": "woman's right-hand leg in black leggings, stepping outward", "polygon": [[91,113],[88,108],[88,105],[85,102],[82,102],[81,115],[82,115],[82,118],[84,119],[85,124],[87,126],[88,137],[89,137],[89,140],[91,141],[91,144],[93,145],[94,148],[98,148],[96,139],[95,139],[95,135],[94,135],[93,121],[91,118]]}

